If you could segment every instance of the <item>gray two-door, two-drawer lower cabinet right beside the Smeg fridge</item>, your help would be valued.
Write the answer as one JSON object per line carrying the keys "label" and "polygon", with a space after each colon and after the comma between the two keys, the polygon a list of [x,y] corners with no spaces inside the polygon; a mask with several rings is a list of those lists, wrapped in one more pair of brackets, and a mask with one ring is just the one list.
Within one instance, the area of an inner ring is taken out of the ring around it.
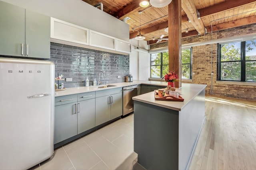
{"label": "gray two-door, two-drawer lower cabinet right beside the Smeg fridge", "polygon": [[95,127],[95,92],[55,98],[54,144]]}

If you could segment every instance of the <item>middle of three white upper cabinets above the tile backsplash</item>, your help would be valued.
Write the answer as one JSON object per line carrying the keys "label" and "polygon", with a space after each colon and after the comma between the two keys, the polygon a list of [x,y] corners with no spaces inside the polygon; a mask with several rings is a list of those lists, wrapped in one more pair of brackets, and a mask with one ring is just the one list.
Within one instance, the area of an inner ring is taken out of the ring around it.
{"label": "middle of three white upper cabinets above the tile backsplash", "polygon": [[89,45],[109,50],[116,50],[116,38],[90,30]]}

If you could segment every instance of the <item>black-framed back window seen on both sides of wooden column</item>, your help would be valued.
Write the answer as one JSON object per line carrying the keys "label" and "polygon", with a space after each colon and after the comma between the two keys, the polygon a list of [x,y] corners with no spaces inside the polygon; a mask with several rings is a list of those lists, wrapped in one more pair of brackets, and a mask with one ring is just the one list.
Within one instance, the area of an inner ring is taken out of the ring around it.
{"label": "black-framed back window seen on both sides of wooden column", "polygon": [[[191,48],[182,49],[182,78],[191,79]],[[169,53],[152,53],[150,63],[150,77],[162,78],[169,69]]]}

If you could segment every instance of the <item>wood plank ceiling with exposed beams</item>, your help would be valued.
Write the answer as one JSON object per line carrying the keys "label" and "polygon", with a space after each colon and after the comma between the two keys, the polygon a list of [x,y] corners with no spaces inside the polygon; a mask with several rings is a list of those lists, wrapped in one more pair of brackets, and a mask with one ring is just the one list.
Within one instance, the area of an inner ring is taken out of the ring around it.
{"label": "wood plank ceiling with exposed beams", "polygon": [[[102,2],[104,12],[120,20],[128,17],[129,19],[126,22],[130,25],[130,38],[136,37],[140,30],[141,34],[146,37],[145,40],[150,44],[156,43],[161,35],[164,35],[164,38],[168,38],[168,33],[164,31],[168,26],[168,6],[155,8],[149,5],[146,8],[142,8],[139,6],[141,0],[82,1],[92,6]],[[182,37],[204,35],[211,31],[256,23],[256,0],[181,1]],[[139,14],[139,11],[142,11],[142,14]]]}

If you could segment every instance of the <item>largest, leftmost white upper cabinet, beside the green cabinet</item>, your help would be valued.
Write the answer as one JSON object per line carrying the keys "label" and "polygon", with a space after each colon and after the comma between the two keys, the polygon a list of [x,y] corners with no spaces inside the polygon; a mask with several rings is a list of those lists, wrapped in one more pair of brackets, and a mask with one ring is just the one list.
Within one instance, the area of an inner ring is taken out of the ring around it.
{"label": "largest, leftmost white upper cabinet, beside the green cabinet", "polygon": [[89,45],[89,29],[51,18],[51,38]]}

